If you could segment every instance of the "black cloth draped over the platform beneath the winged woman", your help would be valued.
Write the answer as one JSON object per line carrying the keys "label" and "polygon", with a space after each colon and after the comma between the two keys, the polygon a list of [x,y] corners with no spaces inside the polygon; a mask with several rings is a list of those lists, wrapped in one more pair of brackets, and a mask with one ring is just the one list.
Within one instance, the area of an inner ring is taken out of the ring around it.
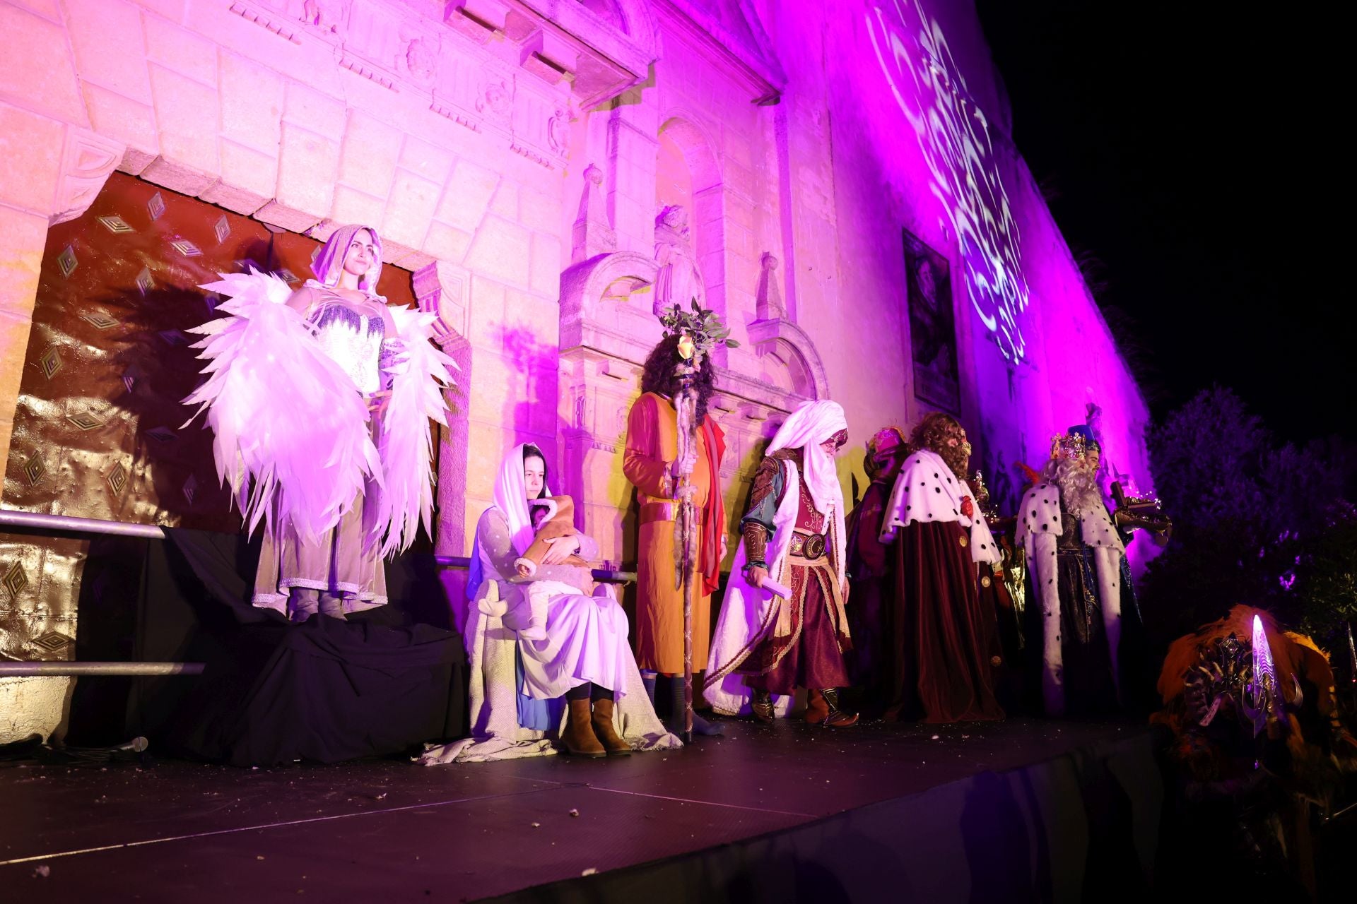
{"label": "black cloth draped over the platform beneath the winged woman", "polygon": [[236,766],[334,763],[465,735],[465,653],[432,556],[387,564],[387,606],[290,625],[250,604],[258,542],[166,534],[147,543],[133,657],[206,668],[132,682],[125,733]]}

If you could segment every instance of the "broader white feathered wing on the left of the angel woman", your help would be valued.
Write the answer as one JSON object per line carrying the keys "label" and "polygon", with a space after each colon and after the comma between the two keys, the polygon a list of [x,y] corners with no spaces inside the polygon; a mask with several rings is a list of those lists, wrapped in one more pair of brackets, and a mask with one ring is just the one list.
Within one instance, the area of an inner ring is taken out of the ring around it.
{"label": "broader white feathered wing on the left of the angel woman", "polygon": [[312,541],[339,523],[365,478],[381,480],[368,407],[285,304],[288,283],[221,274],[202,289],[229,297],[217,306],[229,316],[190,331],[205,336],[193,347],[208,379],[185,403],[198,405],[193,417],[206,408],[217,477],[231,484],[250,533],[261,520],[270,531],[290,522]]}

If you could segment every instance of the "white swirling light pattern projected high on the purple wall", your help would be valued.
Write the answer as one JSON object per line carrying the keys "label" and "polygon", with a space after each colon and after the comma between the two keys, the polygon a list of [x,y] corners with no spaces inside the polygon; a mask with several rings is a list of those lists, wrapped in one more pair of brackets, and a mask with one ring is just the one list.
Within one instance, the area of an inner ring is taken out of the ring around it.
{"label": "white swirling light pattern projected high on the purple wall", "polygon": [[961,244],[970,305],[1004,359],[1022,363],[1027,343],[1020,317],[1029,298],[1022,236],[985,114],[970,99],[940,26],[919,0],[878,4],[867,14],[867,34]]}

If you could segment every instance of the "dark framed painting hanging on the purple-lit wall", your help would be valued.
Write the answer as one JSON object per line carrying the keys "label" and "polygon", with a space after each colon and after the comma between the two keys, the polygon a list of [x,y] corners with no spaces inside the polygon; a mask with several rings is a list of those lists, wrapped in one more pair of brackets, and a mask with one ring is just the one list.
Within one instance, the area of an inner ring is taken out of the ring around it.
{"label": "dark framed painting hanging on the purple-lit wall", "polygon": [[902,233],[915,396],[940,411],[959,415],[961,384],[957,370],[957,319],[951,306],[951,267],[946,255],[930,248],[908,229]]}

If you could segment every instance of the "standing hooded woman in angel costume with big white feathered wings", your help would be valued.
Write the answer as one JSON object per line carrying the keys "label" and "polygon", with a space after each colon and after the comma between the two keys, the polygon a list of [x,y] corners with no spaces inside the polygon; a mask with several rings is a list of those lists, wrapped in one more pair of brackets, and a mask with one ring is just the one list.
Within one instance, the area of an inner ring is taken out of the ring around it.
{"label": "standing hooded woman in angel costume with big white feathered wings", "polygon": [[217,473],[248,529],[266,525],[254,604],[301,622],[387,602],[381,557],[429,530],[432,436],[455,366],[434,314],[376,294],[381,241],[341,226],[297,291],[261,272],[204,286],[227,317],[194,332]]}

